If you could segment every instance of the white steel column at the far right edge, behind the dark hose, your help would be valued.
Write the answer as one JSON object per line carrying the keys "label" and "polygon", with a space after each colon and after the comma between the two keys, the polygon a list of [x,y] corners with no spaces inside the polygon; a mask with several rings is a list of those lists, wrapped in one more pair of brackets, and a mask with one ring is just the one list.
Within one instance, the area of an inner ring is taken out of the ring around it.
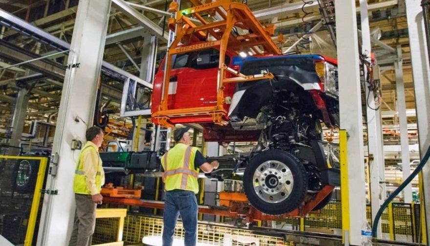
{"label": "white steel column at the far right edge, behind the dark hose", "polygon": [[[412,76],[415,87],[415,103],[418,120],[418,134],[421,158],[430,146],[430,69],[427,55],[427,42],[423,13],[420,0],[407,0],[406,14],[408,18],[410,57],[412,62]],[[423,170],[426,238],[430,234],[430,166],[425,165]],[[430,245],[427,242],[427,245]]]}

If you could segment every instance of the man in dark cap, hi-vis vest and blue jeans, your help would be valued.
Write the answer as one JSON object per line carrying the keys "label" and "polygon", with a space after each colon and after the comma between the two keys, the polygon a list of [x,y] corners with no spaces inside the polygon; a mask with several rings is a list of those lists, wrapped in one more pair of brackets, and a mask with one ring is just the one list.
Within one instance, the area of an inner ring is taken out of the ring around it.
{"label": "man in dark cap, hi-vis vest and blue jeans", "polygon": [[197,240],[198,169],[210,173],[218,161],[207,162],[198,148],[192,147],[189,127],[176,129],[177,144],[161,158],[164,169],[163,246],[172,246],[176,221],[181,215],[185,229],[185,246],[195,246]]}

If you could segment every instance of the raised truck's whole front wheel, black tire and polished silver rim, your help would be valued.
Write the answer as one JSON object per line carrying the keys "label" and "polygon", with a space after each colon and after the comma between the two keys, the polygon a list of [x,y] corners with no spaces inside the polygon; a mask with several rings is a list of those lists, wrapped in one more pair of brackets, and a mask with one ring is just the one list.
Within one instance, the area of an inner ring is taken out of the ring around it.
{"label": "raised truck's whole front wheel, black tire and polished silver rim", "polygon": [[248,201],[265,214],[278,215],[301,205],[307,191],[307,174],[299,159],[281,150],[253,157],[243,175]]}

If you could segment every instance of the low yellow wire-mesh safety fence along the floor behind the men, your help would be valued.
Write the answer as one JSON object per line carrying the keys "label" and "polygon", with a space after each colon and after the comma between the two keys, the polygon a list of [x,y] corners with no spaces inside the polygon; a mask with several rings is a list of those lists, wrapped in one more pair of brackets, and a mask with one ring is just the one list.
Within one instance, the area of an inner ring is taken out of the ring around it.
{"label": "low yellow wire-mesh safety fence along the floor behind the men", "polygon": [[[309,232],[322,232],[341,235],[342,215],[339,201],[332,201],[322,210],[310,213],[305,218],[287,218],[276,221],[277,227]],[[370,206],[366,207],[367,220],[371,220]],[[382,215],[381,225],[385,240],[417,243],[422,242],[420,235],[420,204],[391,203]],[[117,236],[118,219],[97,219],[93,244],[114,241]],[[265,224],[264,226],[268,226]],[[163,231],[163,220],[142,214],[128,214],[124,221],[123,241],[125,245],[147,242],[160,243]],[[183,239],[185,231],[182,223],[178,222],[174,237]],[[250,230],[234,226],[208,224],[198,225],[198,242],[200,245],[293,245],[285,242],[282,237],[255,235]],[[244,244],[247,242],[247,244]]]}

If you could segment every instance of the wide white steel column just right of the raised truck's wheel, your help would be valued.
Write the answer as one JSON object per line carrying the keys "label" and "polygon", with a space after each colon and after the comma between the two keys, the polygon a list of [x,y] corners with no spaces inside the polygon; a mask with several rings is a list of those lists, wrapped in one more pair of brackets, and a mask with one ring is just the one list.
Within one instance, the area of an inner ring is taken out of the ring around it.
{"label": "wide white steel column just right of the raised truck's wheel", "polygon": [[[363,118],[355,0],[335,1],[338,44],[340,127],[349,134],[348,181],[351,245],[361,245],[361,227],[366,221]],[[342,189],[342,187],[341,187]]]}

